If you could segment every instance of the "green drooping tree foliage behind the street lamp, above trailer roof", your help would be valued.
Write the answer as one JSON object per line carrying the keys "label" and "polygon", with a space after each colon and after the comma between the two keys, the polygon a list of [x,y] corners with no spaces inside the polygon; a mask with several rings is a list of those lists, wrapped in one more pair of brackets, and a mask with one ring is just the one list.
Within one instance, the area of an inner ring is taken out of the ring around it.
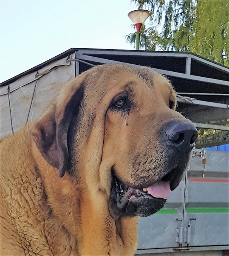
{"label": "green drooping tree foliage behind the street lamp, above trailer roof", "polygon": [[[151,11],[141,48],[190,51],[229,66],[229,0],[132,0]],[[135,44],[136,33],[126,36]]]}

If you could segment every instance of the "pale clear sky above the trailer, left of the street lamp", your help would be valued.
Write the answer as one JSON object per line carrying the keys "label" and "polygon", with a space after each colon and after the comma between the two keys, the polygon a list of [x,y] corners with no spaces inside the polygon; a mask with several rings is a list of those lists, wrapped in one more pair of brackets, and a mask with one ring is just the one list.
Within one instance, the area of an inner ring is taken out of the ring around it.
{"label": "pale clear sky above the trailer, left of the street lamp", "polygon": [[134,49],[130,0],[0,0],[0,82],[70,48]]}

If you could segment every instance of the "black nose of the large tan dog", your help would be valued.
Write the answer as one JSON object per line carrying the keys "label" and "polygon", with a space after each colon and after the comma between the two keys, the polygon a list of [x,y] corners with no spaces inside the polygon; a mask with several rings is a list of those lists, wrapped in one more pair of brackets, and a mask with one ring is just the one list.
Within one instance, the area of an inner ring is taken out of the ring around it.
{"label": "black nose of the large tan dog", "polygon": [[195,146],[198,132],[191,121],[172,120],[164,127],[166,143],[176,147],[179,151],[191,151]]}

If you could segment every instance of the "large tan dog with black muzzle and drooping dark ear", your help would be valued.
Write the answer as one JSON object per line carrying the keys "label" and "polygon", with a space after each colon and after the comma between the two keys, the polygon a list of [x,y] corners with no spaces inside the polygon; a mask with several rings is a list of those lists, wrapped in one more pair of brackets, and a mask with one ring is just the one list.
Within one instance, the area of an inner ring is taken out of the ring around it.
{"label": "large tan dog with black muzzle and drooping dark ear", "polygon": [[133,256],[197,130],[149,67],[99,65],[0,143],[1,256]]}

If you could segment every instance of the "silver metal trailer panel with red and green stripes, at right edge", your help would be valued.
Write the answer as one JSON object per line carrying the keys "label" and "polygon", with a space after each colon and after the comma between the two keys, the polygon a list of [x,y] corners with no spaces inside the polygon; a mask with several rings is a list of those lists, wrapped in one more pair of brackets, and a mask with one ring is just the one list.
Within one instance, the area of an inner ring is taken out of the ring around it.
{"label": "silver metal trailer panel with red and green stripes, at right edge", "polygon": [[[191,224],[190,246],[228,245],[229,153],[205,151],[205,158],[207,163],[204,166],[204,179],[201,157],[196,156],[191,162],[187,180],[184,226],[188,226],[190,218],[195,218]],[[193,177],[197,179],[192,179]],[[187,246],[185,242],[183,245]]]}

